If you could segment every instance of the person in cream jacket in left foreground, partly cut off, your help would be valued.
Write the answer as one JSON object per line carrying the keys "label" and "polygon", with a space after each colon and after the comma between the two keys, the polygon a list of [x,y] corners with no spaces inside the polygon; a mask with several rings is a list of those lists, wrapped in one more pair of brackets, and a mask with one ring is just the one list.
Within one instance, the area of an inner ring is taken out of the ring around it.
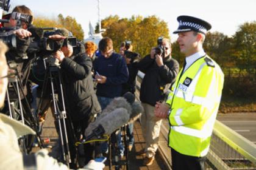
{"label": "person in cream jacket in left foreground, partly cut off", "polygon": [[[0,107],[2,107],[7,89],[8,78],[7,62],[5,60],[6,45],[0,42]],[[35,134],[30,127],[6,115],[0,114],[0,169],[68,169],[66,165],[58,163],[48,156],[46,149],[41,149],[35,154],[23,155],[18,146],[18,137]],[[103,163],[91,160],[84,169],[102,169]]]}

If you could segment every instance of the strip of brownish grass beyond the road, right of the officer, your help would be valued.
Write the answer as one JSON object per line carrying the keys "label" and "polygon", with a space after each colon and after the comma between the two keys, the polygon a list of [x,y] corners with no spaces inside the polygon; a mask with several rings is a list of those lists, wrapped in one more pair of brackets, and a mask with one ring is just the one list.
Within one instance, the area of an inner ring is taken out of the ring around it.
{"label": "strip of brownish grass beyond the road, right of the officer", "polygon": [[219,112],[256,112],[256,98],[222,97]]}

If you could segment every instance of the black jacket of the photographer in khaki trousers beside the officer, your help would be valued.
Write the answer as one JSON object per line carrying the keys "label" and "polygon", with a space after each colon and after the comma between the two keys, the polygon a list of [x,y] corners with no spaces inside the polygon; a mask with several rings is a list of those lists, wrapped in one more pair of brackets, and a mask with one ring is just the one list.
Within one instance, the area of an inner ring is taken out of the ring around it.
{"label": "black jacket of the photographer in khaki trousers beside the officer", "polygon": [[164,100],[165,92],[176,80],[179,63],[171,55],[163,58],[163,66],[158,67],[150,55],[138,63],[138,68],[145,73],[140,89],[140,100],[155,106],[157,101]]}

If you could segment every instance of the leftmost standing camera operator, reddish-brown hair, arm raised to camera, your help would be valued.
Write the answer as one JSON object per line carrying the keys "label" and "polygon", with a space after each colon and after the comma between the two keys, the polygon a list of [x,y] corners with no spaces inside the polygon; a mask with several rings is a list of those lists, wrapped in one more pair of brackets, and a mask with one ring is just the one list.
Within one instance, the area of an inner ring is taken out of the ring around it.
{"label": "leftmost standing camera operator, reddish-brown hair, arm raised to camera", "polygon": [[[28,21],[16,20],[17,15],[26,15],[28,16]],[[12,13],[3,16],[4,19],[9,19],[9,22],[4,22],[2,25],[2,33],[10,32],[16,35],[16,47],[10,47],[10,50],[6,53],[7,63],[11,69],[15,69],[18,72],[18,77],[21,81],[20,95],[21,99],[27,95],[27,80],[30,72],[30,63],[31,61],[27,57],[27,49],[30,44],[30,36],[32,33],[27,29],[33,21],[33,13],[25,5],[16,6]],[[12,46],[8,44],[9,46]],[[21,92],[21,90],[23,92]],[[23,95],[24,93],[24,95]],[[11,100],[17,100],[18,95],[16,94],[13,88],[9,89],[9,95]],[[22,100],[24,103],[24,100]],[[7,104],[5,104],[7,106]],[[24,107],[24,109],[27,109]],[[7,112],[7,107],[4,108],[4,112]]]}

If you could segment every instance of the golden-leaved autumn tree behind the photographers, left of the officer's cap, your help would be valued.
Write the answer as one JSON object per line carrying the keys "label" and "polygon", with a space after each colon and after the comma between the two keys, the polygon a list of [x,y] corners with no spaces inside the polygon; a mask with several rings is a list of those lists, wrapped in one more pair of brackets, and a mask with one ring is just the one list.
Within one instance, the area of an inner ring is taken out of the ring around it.
{"label": "golden-leaved autumn tree behind the photographers, left of the officer's cap", "polygon": [[[101,22],[102,28],[106,29],[103,36],[112,38],[114,49],[118,52],[119,44],[124,40],[132,41],[133,51],[145,56],[152,47],[157,46],[158,36],[169,38],[167,23],[157,16],[132,16],[122,18],[108,16]],[[96,26],[96,29],[98,25]]]}

